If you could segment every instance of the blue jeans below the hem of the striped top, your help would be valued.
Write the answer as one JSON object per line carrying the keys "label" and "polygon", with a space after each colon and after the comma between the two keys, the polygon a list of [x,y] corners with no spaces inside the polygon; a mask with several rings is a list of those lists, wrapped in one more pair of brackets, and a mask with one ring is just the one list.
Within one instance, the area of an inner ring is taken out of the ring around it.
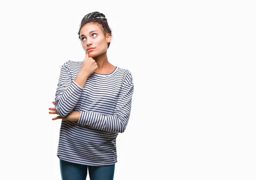
{"label": "blue jeans below the hem of the striped top", "polygon": [[115,164],[105,166],[90,166],[70,163],[60,159],[62,180],[86,180],[87,168],[90,180],[113,180]]}

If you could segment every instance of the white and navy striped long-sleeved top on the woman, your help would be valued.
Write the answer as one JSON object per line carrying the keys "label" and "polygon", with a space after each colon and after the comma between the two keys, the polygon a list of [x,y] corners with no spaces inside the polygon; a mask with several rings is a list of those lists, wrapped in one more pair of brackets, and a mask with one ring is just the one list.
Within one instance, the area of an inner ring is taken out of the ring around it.
{"label": "white and navy striped long-sleeved top on the woman", "polygon": [[112,73],[92,73],[80,87],[74,80],[82,61],[66,61],[55,93],[57,113],[81,112],[78,122],[62,119],[57,156],[84,165],[117,163],[116,137],[127,126],[134,84],[131,72],[116,67]]}

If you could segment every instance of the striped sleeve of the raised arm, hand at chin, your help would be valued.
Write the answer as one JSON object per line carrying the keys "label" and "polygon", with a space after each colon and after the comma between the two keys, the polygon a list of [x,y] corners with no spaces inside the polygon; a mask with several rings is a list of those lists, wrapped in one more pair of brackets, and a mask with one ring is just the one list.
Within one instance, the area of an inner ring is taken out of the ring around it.
{"label": "striped sleeve of the raised arm, hand at chin", "polygon": [[70,70],[66,67],[67,62],[61,67],[55,93],[55,108],[61,117],[67,116],[74,109],[83,91],[83,88],[72,80]]}

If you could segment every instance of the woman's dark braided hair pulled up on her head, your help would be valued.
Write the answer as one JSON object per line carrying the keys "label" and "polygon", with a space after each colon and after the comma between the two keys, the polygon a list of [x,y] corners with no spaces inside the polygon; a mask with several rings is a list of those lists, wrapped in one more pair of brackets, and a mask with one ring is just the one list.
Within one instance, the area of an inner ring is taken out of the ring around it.
{"label": "woman's dark braided hair pulled up on her head", "polygon": [[[112,36],[112,32],[110,27],[108,26],[108,21],[105,15],[100,12],[90,12],[87,15],[85,15],[81,20],[81,24],[78,32],[79,40],[81,40],[81,37],[80,37],[81,28],[87,23],[98,23],[104,35],[106,35],[106,33],[109,33]],[[109,46],[110,46],[110,42],[108,43],[108,47]]]}

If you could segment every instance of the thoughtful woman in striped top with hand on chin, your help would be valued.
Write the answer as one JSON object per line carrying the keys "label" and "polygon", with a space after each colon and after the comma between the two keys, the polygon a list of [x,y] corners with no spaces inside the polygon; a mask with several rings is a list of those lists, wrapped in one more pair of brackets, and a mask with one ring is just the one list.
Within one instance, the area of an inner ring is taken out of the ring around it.
{"label": "thoughtful woman in striped top with hand on chin", "polygon": [[105,15],[84,16],[79,40],[84,61],[60,70],[52,120],[62,119],[57,156],[62,180],[113,180],[116,137],[128,124],[134,84],[131,72],[108,61],[111,29]]}

